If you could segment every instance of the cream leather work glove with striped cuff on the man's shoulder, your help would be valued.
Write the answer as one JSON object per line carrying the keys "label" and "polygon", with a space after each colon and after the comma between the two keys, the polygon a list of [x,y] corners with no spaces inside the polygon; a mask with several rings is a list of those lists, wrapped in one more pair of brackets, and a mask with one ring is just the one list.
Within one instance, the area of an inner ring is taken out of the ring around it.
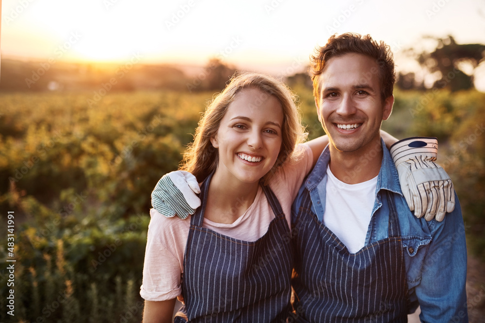
{"label": "cream leather work glove with striped cuff on the man's shoulder", "polygon": [[390,148],[396,164],[399,183],[414,215],[426,221],[442,221],[454,209],[454,189],[450,176],[435,163],[437,138],[412,137],[400,140]]}

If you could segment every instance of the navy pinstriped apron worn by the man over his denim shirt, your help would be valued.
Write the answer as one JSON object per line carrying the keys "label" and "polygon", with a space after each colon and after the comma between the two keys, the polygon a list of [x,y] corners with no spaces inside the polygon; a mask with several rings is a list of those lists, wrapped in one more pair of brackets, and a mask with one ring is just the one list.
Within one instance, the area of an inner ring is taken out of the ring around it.
{"label": "navy pinstriped apron worn by the man over his denim shirt", "polygon": [[311,211],[310,195],[295,221],[295,322],[407,322],[403,246],[394,201],[388,238],[351,254]]}

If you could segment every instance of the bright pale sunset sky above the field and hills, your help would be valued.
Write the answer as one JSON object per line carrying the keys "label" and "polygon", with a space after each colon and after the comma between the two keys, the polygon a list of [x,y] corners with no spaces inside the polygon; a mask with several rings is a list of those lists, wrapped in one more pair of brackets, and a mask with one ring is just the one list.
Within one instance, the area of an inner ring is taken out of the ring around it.
{"label": "bright pale sunset sky above the field and hills", "polygon": [[203,65],[218,56],[275,74],[304,69],[316,45],[346,31],[384,40],[403,70],[413,68],[403,50],[422,35],[485,43],[484,0],[2,0],[1,14],[2,57]]}

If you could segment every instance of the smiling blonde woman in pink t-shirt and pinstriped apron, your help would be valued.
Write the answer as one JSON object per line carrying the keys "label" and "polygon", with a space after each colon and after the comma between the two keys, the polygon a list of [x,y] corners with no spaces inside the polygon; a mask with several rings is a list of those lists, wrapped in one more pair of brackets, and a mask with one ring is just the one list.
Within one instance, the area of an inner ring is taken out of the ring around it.
{"label": "smiling blonde woman in pink t-shirt and pinstriped apron", "polygon": [[179,294],[191,322],[288,317],[291,201],[326,144],[295,151],[306,135],[291,92],[272,77],[235,77],[212,101],[184,155],[183,169],[204,181],[202,207],[190,223],[151,210],[144,322],[170,322]]}

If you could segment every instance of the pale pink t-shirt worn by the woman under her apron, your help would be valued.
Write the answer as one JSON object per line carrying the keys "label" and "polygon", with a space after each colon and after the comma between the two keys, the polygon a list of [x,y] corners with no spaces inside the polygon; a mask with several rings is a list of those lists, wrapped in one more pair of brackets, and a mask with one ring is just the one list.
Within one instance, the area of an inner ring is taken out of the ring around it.
{"label": "pale pink t-shirt worn by the woman under her apron", "polygon": [[[302,159],[276,171],[269,183],[286,215],[289,228],[291,204],[313,160],[308,145],[300,147],[305,150]],[[185,220],[177,216],[165,217],[155,209],[150,210],[150,216],[140,295],[149,301],[164,301],[182,293],[181,274],[191,217]],[[273,210],[259,187],[254,202],[234,223],[217,223],[204,218],[202,226],[235,239],[256,241],[268,231],[274,218]]]}

